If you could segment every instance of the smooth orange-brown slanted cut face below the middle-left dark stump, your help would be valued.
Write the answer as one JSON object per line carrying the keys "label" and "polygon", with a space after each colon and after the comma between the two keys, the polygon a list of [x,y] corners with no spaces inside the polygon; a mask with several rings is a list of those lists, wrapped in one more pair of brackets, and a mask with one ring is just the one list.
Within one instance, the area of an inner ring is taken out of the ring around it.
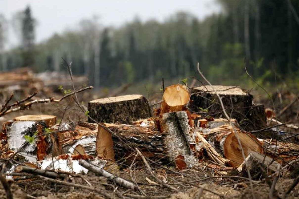
{"label": "smooth orange-brown slanted cut face below the middle-left dark stump", "polygon": [[97,132],[97,156],[114,161],[114,149],[112,135],[104,128],[98,128]]}

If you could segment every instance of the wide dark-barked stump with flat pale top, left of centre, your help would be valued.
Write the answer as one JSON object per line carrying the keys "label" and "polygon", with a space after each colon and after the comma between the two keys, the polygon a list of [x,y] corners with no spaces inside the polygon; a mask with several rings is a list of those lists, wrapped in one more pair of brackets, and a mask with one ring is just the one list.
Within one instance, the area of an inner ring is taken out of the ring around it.
{"label": "wide dark-barked stump with flat pale top, left of centre", "polygon": [[[147,99],[142,95],[102,98],[88,103],[89,116],[97,122],[132,124],[151,117]],[[89,119],[89,122],[91,119]]]}

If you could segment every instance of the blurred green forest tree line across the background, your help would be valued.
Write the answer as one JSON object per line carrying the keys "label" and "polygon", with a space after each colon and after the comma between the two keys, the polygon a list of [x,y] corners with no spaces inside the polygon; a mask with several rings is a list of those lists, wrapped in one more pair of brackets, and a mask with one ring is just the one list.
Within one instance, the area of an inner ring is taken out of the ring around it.
{"label": "blurred green forest tree line across the background", "polygon": [[[103,27],[99,19],[82,20],[76,30],[34,42],[30,7],[19,13],[22,45],[3,50],[5,19],[0,16],[0,69],[31,66],[37,72],[66,70],[87,75],[94,86],[195,76],[196,64],[213,83],[236,83],[246,66],[261,83],[277,79],[299,82],[299,1],[218,0],[221,13],[204,20],[178,12],[164,22],[136,17]],[[55,22],[53,22],[55,23]]]}

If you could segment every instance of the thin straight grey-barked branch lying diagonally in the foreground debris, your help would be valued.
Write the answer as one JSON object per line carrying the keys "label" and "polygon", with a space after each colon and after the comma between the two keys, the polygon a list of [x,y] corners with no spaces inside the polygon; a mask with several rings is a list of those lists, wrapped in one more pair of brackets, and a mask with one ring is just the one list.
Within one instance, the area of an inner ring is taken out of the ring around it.
{"label": "thin straight grey-barked branch lying diagonally in the foreground debris", "polygon": [[128,189],[138,190],[138,187],[130,182],[129,180],[123,179],[121,177],[118,177],[112,173],[109,173],[104,168],[98,168],[97,166],[94,166],[92,164],[89,164],[87,161],[80,159],[79,164],[82,165],[84,168],[88,169],[89,171],[92,171],[96,174],[100,174],[101,176],[106,177],[108,180],[113,180],[115,183],[117,183],[120,186],[123,186]]}

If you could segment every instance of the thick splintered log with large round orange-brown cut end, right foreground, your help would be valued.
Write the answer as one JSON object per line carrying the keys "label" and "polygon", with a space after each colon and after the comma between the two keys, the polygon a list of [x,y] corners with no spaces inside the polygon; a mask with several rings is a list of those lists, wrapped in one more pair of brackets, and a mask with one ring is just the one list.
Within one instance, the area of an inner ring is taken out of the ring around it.
{"label": "thick splintered log with large round orange-brown cut end, right foreground", "polygon": [[223,125],[215,129],[197,129],[211,146],[219,153],[222,157],[230,160],[228,163],[233,167],[238,167],[243,161],[242,151],[239,146],[237,137],[241,142],[244,150],[245,157],[251,151],[262,153],[262,145],[260,141],[251,133],[241,131],[237,127],[231,127],[230,125]]}

